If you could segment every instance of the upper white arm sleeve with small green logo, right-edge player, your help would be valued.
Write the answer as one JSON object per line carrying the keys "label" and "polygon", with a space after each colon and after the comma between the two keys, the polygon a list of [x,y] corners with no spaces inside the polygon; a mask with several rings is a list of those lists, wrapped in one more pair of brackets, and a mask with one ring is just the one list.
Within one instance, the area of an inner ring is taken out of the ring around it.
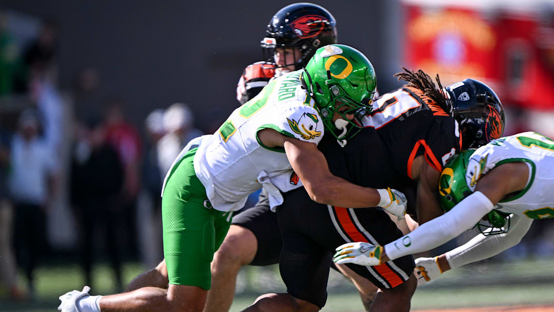
{"label": "upper white arm sleeve with small green logo, right-edge player", "polygon": [[481,192],[475,192],[438,218],[420,225],[412,233],[384,246],[391,260],[424,252],[450,241],[474,226],[493,210],[493,203]]}

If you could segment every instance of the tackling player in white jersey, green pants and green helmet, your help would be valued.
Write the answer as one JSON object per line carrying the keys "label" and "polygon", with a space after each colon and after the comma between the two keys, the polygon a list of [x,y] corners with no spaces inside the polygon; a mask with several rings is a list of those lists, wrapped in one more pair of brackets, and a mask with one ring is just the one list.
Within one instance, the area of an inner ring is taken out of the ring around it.
{"label": "tackling player in white jersey, green pants and green helmet", "polygon": [[[375,72],[365,55],[336,44],[318,49],[305,70],[271,81],[214,135],[191,141],[166,176],[162,217],[168,289],[90,296],[85,287],[60,296],[58,309],[201,311],[211,287],[213,253],[227,234],[233,211],[262,186],[272,208],[283,202],[280,192],[304,185],[320,203],[379,206],[403,217],[401,193],[332,175],[317,150],[324,131],[341,144],[357,133],[361,124],[356,115],[368,109],[375,88]],[[293,170],[301,183],[290,183]]]}

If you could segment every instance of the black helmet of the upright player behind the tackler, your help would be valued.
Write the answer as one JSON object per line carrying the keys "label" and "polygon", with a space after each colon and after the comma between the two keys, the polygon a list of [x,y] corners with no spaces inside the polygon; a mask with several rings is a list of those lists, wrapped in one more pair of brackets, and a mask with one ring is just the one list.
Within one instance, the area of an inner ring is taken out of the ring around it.
{"label": "black helmet of the upright player behind the tackler", "polygon": [[[269,21],[266,37],[261,40],[263,57],[272,68],[295,65],[303,68],[315,51],[327,44],[337,43],[335,18],[325,8],[312,3],[294,3],[279,10]],[[275,64],[275,48],[300,49],[295,63]]]}

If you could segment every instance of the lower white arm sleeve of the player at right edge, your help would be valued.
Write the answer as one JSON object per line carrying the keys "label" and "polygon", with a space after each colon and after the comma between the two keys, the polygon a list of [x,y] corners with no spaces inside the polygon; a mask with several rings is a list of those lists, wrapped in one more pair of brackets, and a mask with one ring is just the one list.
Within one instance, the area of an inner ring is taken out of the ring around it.
{"label": "lower white arm sleeve of the player at right edge", "polygon": [[471,241],[446,253],[450,268],[458,268],[468,263],[493,257],[504,250],[514,247],[531,227],[532,219],[511,216],[511,226],[507,233],[485,236],[479,234]]}

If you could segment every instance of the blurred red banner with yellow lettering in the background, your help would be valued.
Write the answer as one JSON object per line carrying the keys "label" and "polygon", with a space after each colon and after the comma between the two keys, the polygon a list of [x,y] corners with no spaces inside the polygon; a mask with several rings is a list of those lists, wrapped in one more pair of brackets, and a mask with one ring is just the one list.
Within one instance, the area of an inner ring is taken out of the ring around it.
{"label": "blurred red banner with yellow lettering in the background", "polygon": [[[505,105],[554,109],[554,27],[540,11],[406,3],[404,64],[489,84]],[[539,16],[540,15],[540,16]]]}

